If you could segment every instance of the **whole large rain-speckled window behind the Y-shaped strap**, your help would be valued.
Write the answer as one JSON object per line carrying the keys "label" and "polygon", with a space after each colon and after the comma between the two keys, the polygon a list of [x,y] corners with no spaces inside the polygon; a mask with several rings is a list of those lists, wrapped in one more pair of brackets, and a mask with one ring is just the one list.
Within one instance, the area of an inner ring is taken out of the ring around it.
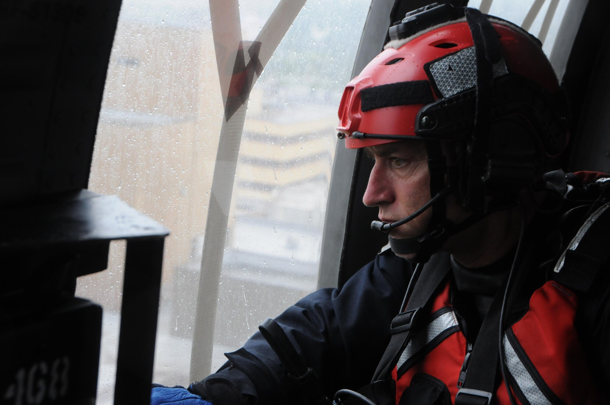
{"label": "whole large rain-speckled window behind the Y-shaped strap", "polygon": [[[254,40],[277,1],[240,7]],[[254,87],[235,176],[213,365],[315,289],[336,109],[370,0],[307,2]],[[350,12],[346,12],[350,10]],[[154,381],[188,384],[223,97],[207,2],[124,0],[89,188],[155,218],[165,242]],[[125,243],[77,295],[104,306],[98,404],[113,401]],[[249,328],[249,329],[248,329]],[[203,376],[202,376],[203,378]]]}

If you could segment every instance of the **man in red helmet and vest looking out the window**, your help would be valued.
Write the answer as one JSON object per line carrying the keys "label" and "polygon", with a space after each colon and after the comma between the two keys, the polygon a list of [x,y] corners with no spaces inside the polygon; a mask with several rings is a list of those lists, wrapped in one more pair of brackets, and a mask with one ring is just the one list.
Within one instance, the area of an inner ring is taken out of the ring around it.
{"label": "man in red helmet and vest looking out the window", "polygon": [[391,250],[153,403],[605,401],[606,177],[551,171],[568,132],[540,43],[436,4],[390,38],[346,86],[338,129],[375,160],[364,203]]}

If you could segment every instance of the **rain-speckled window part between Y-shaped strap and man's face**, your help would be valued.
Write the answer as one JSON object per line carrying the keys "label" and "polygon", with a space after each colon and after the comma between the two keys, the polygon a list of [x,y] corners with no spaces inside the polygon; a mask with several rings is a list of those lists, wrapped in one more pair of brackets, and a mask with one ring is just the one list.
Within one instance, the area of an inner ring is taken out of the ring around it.
{"label": "rain-speckled window part between Y-shaped strap and man's face", "polygon": [[262,321],[316,289],[337,106],[369,5],[306,2],[250,94],[212,370]]}

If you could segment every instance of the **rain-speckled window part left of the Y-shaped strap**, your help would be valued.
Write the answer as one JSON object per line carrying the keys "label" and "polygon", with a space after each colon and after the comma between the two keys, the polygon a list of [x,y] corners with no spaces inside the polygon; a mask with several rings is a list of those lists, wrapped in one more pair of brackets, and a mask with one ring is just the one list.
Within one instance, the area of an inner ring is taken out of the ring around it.
{"label": "rain-speckled window part left of the Y-shaped strap", "polygon": [[[209,5],[123,0],[107,71],[89,188],[162,223],[163,284],[154,381],[187,384],[201,241],[223,116]],[[112,404],[124,243],[108,270],[78,279],[104,307],[98,404]],[[176,290],[180,280],[186,287]],[[192,285],[192,287],[190,286]],[[190,287],[190,288],[189,288]]]}

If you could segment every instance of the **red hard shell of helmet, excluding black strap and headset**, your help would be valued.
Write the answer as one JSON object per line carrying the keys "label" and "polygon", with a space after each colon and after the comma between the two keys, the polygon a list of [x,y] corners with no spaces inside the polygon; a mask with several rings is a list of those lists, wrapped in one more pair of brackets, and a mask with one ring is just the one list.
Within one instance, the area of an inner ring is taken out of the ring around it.
{"label": "red hard shell of helmet, excluding black strap and headset", "polygon": [[[440,7],[447,5],[436,6]],[[502,59],[493,65],[495,81],[498,82],[498,79],[508,74],[513,79],[527,79],[549,95],[557,93],[560,89],[557,78],[539,41],[508,21],[493,17],[489,21],[497,32],[501,45]],[[504,82],[512,87],[510,80]],[[425,118],[421,113],[422,107],[452,96],[456,96],[455,102],[459,103],[462,101],[459,96],[468,89],[472,89],[473,93],[474,87],[475,42],[467,21],[462,17],[436,24],[410,37],[390,41],[386,50],[371,60],[362,73],[346,85],[339,106],[340,124],[337,130],[340,137],[345,136],[345,146],[350,149],[396,142],[401,137],[428,138],[423,134],[423,127],[426,124],[438,126],[439,123],[431,123],[429,116],[427,123],[426,120],[423,123],[418,121],[418,116],[420,120]],[[504,104],[511,102],[513,101],[508,100]],[[468,106],[461,108],[464,107]],[[455,115],[455,120],[461,120],[460,113]],[[474,110],[468,115],[473,117]],[[436,121],[439,121],[438,118]],[[444,124],[451,124],[451,120],[445,118],[447,122]],[[531,117],[527,119],[532,121]],[[553,121],[554,117],[546,120]],[[470,127],[462,123],[455,130],[464,133],[472,131],[473,120],[470,121]],[[534,124],[556,126],[556,123],[547,122]],[[462,135],[454,131],[451,133],[450,129],[445,127],[445,133],[437,134],[436,138],[452,139]],[[539,139],[548,156],[556,156],[565,148],[567,136],[563,132],[564,136],[553,134],[548,136],[551,139],[546,139],[542,135],[543,138]],[[365,134],[364,137],[361,134]],[[369,137],[367,134],[395,135],[395,138]],[[561,139],[555,139],[558,137]]]}

